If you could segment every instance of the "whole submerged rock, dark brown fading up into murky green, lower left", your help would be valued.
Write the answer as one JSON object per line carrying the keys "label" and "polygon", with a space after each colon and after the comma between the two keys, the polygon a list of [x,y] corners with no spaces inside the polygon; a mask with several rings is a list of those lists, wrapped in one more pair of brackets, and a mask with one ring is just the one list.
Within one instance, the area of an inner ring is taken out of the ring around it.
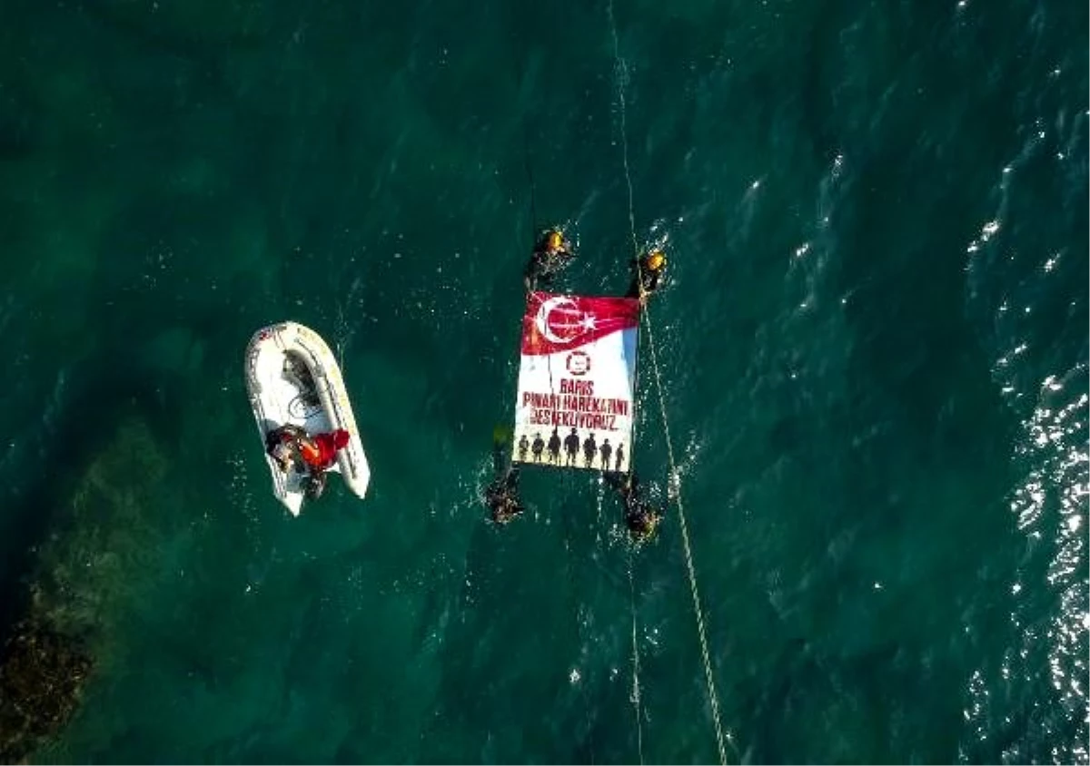
{"label": "whole submerged rock, dark brown fading up into murky green, lower left", "polygon": [[21,616],[5,640],[0,627],[0,766],[60,741],[92,668],[105,678],[119,661],[119,625],[162,571],[152,551],[168,538],[149,511],[165,471],[150,428],[131,416],[59,488]]}

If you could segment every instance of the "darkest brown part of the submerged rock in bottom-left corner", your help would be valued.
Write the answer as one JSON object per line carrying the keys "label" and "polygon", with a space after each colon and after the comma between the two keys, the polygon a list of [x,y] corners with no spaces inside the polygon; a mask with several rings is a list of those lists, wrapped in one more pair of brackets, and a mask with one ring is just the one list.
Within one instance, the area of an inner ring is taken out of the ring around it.
{"label": "darkest brown part of the submerged rock in bottom-left corner", "polygon": [[15,625],[0,653],[0,763],[14,763],[64,728],[90,670],[72,639],[35,620]]}

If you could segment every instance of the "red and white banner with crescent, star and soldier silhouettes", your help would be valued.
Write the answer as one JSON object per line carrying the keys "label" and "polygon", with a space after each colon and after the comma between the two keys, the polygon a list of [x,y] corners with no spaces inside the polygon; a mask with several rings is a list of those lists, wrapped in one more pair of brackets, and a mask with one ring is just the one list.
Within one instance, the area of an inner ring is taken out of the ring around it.
{"label": "red and white banner with crescent, star and soldier silhouettes", "polygon": [[639,321],[635,299],[530,293],[514,462],[628,470]]}

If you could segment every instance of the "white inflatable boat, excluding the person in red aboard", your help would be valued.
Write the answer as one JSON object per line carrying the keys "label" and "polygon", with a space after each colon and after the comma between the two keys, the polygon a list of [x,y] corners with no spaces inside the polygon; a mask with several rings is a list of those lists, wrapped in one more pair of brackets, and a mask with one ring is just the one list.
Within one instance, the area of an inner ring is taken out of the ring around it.
{"label": "white inflatable boat, excluding the person in red aboard", "polygon": [[[367,457],[340,367],[317,332],[293,321],[255,332],[246,348],[246,389],[263,450],[268,433],[289,423],[311,435],[347,430],[348,446],[337,452],[337,462],[329,471],[340,473],[359,497],[366,495],[371,482]],[[306,496],[305,475],[295,469],[284,473],[267,452],[265,461],[272,474],[274,494],[299,515]]]}

